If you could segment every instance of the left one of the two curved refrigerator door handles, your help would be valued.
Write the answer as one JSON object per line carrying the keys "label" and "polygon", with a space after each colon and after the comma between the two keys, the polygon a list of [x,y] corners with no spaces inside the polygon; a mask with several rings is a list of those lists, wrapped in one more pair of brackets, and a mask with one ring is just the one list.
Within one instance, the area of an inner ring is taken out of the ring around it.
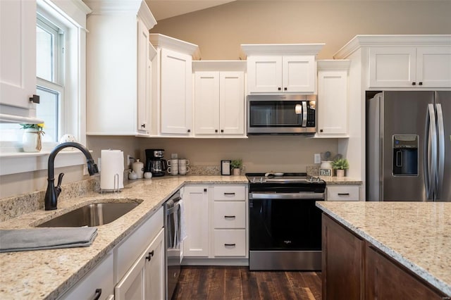
{"label": "left one of the two curved refrigerator door handles", "polygon": [[426,187],[426,198],[433,199],[437,174],[437,131],[433,104],[428,104],[424,136],[424,185]]}

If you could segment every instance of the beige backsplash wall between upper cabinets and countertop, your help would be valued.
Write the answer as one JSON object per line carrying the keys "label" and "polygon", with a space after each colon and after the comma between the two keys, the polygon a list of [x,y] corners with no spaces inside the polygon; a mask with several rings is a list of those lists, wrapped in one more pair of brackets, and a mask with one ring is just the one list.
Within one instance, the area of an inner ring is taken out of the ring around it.
{"label": "beige backsplash wall between upper cabinets and countertop", "polygon": [[312,139],[299,136],[253,136],[248,139],[138,138],[134,146],[130,137],[89,137],[94,159],[101,149],[121,149],[145,161],[144,149],[164,149],[165,158],[178,154],[192,165],[221,165],[222,159],[242,158],[247,172],[305,172],[314,163],[314,153],[337,153],[336,139]]}

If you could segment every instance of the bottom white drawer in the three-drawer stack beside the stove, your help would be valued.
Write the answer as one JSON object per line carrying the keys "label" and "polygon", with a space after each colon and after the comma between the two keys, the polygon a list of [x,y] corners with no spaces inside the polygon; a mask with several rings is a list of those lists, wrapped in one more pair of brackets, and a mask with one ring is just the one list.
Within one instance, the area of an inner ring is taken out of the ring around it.
{"label": "bottom white drawer in the three-drawer stack beside the stove", "polygon": [[246,230],[214,230],[214,256],[246,256]]}

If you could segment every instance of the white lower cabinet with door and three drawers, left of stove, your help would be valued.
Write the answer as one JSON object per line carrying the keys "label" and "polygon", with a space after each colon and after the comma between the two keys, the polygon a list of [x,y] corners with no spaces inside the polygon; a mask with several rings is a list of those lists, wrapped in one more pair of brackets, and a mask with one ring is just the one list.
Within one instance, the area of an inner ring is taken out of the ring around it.
{"label": "white lower cabinet with door and three drawers, left of stove", "polygon": [[184,258],[247,257],[247,187],[185,186]]}

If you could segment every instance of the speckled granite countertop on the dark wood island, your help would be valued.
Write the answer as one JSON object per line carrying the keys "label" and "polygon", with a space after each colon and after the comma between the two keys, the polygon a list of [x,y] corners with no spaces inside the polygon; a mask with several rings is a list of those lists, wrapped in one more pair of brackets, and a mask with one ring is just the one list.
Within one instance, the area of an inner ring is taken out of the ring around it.
{"label": "speckled granite countertop on the dark wood island", "polygon": [[333,219],[451,296],[451,202],[316,202]]}

